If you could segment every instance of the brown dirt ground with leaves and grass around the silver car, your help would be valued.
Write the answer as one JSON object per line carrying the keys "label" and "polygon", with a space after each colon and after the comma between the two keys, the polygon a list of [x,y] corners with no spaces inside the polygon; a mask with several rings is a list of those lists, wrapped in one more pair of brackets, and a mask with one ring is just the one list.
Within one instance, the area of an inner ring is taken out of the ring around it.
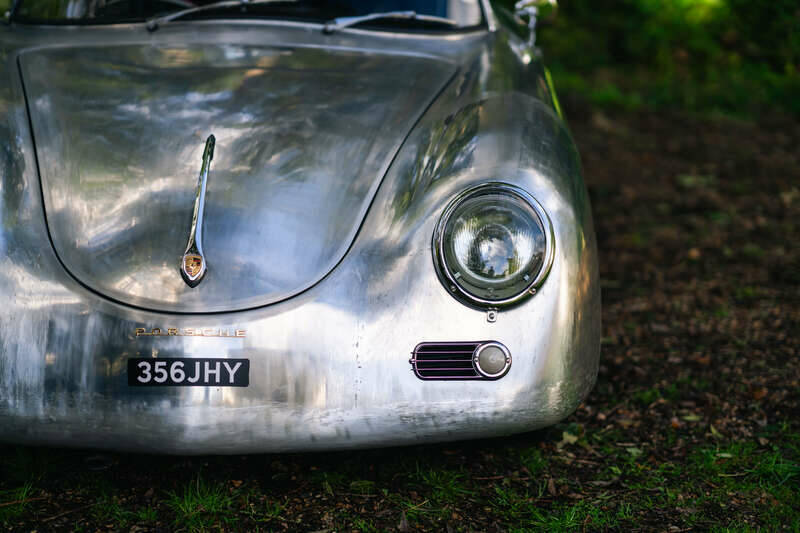
{"label": "brown dirt ground with leaves and grass around the silver car", "polygon": [[0,447],[0,530],[800,531],[800,124],[567,102],[594,391],[473,442],[165,458]]}

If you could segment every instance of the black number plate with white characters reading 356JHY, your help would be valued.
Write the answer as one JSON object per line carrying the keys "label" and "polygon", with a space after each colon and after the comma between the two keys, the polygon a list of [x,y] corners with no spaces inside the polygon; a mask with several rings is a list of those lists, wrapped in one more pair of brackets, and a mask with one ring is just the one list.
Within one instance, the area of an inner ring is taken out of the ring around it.
{"label": "black number plate with white characters reading 356JHY", "polygon": [[247,387],[249,359],[136,357],[128,359],[131,387]]}

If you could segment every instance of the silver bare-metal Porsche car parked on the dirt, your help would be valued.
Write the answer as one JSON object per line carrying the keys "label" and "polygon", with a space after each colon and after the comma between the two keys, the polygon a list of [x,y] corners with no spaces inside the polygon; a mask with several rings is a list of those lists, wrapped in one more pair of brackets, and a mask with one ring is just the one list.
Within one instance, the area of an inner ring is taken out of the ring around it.
{"label": "silver bare-metal Porsche car parked on the dirt", "polygon": [[591,212],[517,14],[16,0],[6,19],[0,441],[410,444],[552,424],[591,389]]}

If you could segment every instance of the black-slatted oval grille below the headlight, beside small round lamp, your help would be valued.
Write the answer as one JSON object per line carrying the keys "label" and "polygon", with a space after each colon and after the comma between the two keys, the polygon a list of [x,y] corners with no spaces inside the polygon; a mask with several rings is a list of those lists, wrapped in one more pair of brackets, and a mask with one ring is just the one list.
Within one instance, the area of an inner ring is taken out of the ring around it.
{"label": "black-slatted oval grille below the headlight, beside small round lamp", "polygon": [[411,367],[419,379],[482,379],[486,377],[475,368],[475,351],[493,341],[421,342],[411,352]]}

